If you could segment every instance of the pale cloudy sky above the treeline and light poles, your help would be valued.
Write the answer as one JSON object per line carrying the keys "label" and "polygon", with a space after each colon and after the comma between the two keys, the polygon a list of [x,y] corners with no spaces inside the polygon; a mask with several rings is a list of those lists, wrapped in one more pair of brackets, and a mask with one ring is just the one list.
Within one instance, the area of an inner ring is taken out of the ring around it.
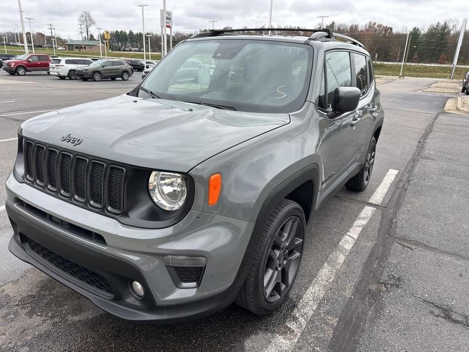
{"label": "pale cloudy sky above the treeline and light poles", "polygon": [[[163,2],[146,0],[22,0],[25,17],[33,17],[32,29],[45,31],[52,23],[63,38],[78,37],[78,16],[81,11],[90,11],[97,26],[104,29],[132,29],[141,31],[141,8],[147,4],[145,25],[147,31],[159,31],[159,9]],[[16,0],[2,1],[0,31],[13,30],[20,24]],[[215,27],[257,27],[269,22],[270,0],[177,0],[166,1],[173,12],[174,30],[197,31]],[[403,30],[413,26],[426,27],[430,23],[456,19],[468,14],[466,0],[273,0],[272,25],[315,27],[320,15],[327,20],[345,23],[377,21]],[[27,26],[27,23],[25,23]],[[28,28],[27,28],[28,29]],[[93,30],[96,33],[96,30]]]}

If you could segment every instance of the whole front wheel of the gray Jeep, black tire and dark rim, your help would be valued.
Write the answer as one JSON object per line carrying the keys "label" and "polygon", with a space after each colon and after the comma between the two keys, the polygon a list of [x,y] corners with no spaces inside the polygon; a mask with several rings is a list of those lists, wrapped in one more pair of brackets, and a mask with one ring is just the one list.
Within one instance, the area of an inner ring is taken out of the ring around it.
{"label": "whole front wheel of the gray Jeep, black tire and dark rim", "polygon": [[305,215],[298,203],[284,199],[274,207],[236,297],[238,305],[259,315],[282,305],[300,268],[305,229]]}

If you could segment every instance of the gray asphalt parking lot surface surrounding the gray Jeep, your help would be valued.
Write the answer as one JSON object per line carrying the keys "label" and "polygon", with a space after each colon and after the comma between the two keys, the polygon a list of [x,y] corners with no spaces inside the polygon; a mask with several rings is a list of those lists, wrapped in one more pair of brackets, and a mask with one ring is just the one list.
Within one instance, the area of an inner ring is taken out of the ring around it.
{"label": "gray asphalt parking lot surface surrounding the gray Jeep", "polygon": [[[139,81],[0,73],[0,180],[37,111],[121,94]],[[467,351],[469,117],[431,79],[379,85],[385,124],[366,191],[343,189],[310,221],[295,286],[275,313],[233,304],[204,320],[135,325],[14,258],[0,207],[2,351]],[[0,189],[0,199],[5,190]],[[1,205],[0,205],[1,206]]]}

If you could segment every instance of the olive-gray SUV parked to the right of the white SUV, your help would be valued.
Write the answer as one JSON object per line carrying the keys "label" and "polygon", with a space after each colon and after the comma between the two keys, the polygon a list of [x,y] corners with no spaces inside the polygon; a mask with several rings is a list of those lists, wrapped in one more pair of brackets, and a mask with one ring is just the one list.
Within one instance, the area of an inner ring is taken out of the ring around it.
{"label": "olive-gray SUV parked to the right of the white SUV", "polygon": [[101,59],[94,61],[89,66],[77,68],[75,74],[83,81],[92,79],[93,81],[101,81],[103,78],[115,80],[121,78],[127,81],[132,76],[132,67],[122,60]]}

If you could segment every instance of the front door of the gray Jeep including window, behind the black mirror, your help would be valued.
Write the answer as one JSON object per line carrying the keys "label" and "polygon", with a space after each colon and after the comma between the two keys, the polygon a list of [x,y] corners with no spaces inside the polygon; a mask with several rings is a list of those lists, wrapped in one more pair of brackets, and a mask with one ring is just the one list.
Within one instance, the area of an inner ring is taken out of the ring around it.
{"label": "front door of the gray Jeep including window, behind the black mirror", "polygon": [[332,97],[338,87],[353,86],[352,65],[350,52],[339,50],[329,51],[324,56],[323,93],[320,100],[321,111],[320,131],[322,144],[319,154],[323,159],[324,187],[328,187],[346,172],[357,157],[356,142],[358,130],[352,126],[352,121],[359,115],[359,111],[352,111],[342,115],[329,117],[332,111]]}

